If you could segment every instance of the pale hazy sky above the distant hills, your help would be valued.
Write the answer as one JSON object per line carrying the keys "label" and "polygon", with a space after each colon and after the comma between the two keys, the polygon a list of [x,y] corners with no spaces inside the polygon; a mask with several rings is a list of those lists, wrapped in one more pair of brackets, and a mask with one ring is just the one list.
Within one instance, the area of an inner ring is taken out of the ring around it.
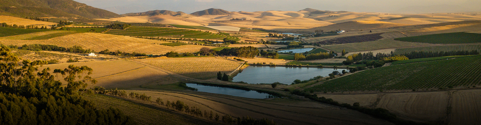
{"label": "pale hazy sky above the distant hills", "polygon": [[209,8],[226,11],[325,11],[435,13],[481,11],[481,0],[75,0],[114,13],[152,10],[193,13]]}

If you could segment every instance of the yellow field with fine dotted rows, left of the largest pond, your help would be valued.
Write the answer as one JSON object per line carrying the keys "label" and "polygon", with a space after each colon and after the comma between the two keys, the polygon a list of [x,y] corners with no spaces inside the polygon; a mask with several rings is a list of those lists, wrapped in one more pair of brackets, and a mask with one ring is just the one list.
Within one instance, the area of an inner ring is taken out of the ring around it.
{"label": "yellow field with fine dotted rows, left of the largest pond", "polygon": [[165,70],[197,79],[214,78],[219,71],[228,74],[243,63],[211,57],[142,59],[135,61],[152,64]]}

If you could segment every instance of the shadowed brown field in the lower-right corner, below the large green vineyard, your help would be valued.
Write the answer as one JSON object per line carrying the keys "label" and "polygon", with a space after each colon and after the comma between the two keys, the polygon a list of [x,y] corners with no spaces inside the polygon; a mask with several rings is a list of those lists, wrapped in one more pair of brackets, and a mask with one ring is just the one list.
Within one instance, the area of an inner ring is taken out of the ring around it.
{"label": "shadowed brown field in the lower-right corner, below the large green vineyard", "polygon": [[343,95],[318,93],[317,95],[351,105],[359,102],[361,106],[384,108],[406,120],[421,122],[442,120],[449,122],[449,125],[481,122],[480,89]]}

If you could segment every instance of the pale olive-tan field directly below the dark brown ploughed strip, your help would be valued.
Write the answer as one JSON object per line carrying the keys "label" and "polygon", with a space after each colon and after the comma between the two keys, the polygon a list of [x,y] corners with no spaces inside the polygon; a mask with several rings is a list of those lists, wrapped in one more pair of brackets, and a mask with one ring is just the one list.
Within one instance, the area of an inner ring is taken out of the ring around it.
{"label": "pale olive-tan field directly below the dark brown ploughed strip", "polygon": [[323,46],[322,48],[327,50],[332,50],[335,52],[342,52],[342,49],[346,50],[346,52],[354,52],[354,51],[367,51],[367,50],[415,47],[415,46],[426,46],[426,45],[432,45],[432,44],[417,43],[417,42],[402,42],[402,41],[397,41],[392,39],[386,39],[386,40],[378,40],[378,41],[370,41],[370,42],[358,42],[358,43]]}

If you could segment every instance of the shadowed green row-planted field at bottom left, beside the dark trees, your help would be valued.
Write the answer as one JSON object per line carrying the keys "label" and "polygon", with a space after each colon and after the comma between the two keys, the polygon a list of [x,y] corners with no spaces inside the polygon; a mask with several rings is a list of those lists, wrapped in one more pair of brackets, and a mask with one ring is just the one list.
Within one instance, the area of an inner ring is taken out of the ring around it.
{"label": "shadowed green row-planted field at bottom left, beside the dark trees", "polygon": [[93,94],[85,95],[86,100],[93,102],[99,109],[108,109],[109,107],[118,108],[126,115],[134,119],[139,125],[213,125],[214,123],[201,120],[165,110],[152,105],[131,102],[123,99],[117,99],[109,96]]}

